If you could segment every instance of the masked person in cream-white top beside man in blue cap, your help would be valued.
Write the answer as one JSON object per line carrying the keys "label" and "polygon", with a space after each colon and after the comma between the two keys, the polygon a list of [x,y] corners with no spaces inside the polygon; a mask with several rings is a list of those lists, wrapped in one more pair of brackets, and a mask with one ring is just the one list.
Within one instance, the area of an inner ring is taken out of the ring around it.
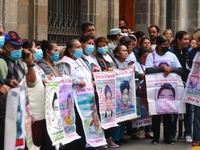
{"label": "masked person in cream-white top beside man in blue cap", "polygon": [[[36,64],[43,57],[41,49],[37,49],[33,40],[24,40],[22,45],[22,60],[26,62],[27,57],[32,53],[32,65],[29,65],[29,72],[26,75],[28,86],[28,97],[30,102],[30,111],[32,116],[32,138],[33,143],[39,146],[41,150],[52,149],[52,142],[46,129],[45,121],[45,87],[43,82],[47,80],[43,70]],[[35,96],[37,93],[37,97]],[[39,100],[39,101],[38,101]]]}

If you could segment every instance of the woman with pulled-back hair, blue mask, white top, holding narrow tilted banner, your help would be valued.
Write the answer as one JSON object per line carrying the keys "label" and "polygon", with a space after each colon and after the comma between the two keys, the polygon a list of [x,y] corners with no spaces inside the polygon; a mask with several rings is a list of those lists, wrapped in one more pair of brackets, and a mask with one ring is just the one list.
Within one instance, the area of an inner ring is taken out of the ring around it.
{"label": "woman with pulled-back hair, blue mask, white top, holding narrow tilted banner", "polygon": [[[83,50],[81,43],[76,40],[70,40],[67,42],[64,57],[56,63],[61,75],[68,75],[72,78],[72,88],[85,87],[92,84],[92,74],[88,66],[81,59],[83,56]],[[76,115],[76,131],[81,139],[75,140],[69,144],[63,146],[65,149],[85,149],[86,139],[81,122],[81,118],[75,107]]]}

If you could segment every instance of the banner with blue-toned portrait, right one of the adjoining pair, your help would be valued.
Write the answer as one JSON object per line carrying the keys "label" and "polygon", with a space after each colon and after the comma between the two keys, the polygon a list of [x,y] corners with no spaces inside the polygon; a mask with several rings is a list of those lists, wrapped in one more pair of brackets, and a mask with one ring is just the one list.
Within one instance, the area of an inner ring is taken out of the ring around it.
{"label": "banner with blue-toned portrait, right one of the adjoining pair", "polygon": [[117,122],[138,118],[134,69],[128,68],[125,70],[115,70],[115,73]]}

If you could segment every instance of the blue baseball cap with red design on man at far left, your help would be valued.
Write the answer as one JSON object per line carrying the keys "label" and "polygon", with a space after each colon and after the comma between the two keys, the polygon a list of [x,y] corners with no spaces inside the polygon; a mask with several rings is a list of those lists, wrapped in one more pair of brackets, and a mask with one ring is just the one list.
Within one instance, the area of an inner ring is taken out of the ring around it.
{"label": "blue baseball cap with red design on man at far left", "polygon": [[4,34],[5,44],[11,43],[13,45],[21,46],[24,42],[15,31],[8,31]]}

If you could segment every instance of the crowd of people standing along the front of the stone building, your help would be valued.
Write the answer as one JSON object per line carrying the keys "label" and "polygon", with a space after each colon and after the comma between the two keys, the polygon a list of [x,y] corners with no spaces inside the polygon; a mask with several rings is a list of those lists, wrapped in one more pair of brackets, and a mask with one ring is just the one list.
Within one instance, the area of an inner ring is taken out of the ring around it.
{"label": "crowd of people standing along the front of the stone building", "polygon": [[[94,72],[134,67],[135,78],[138,79],[137,88],[145,82],[145,74],[153,73],[163,73],[163,76],[167,77],[173,72],[180,75],[186,83],[193,58],[200,50],[200,29],[196,29],[193,36],[189,36],[186,31],[178,31],[173,37],[170,29],[166,29],[162,34],[157,25],[151,25],[148,28],[148,35],[145,35],[143,31],[130,33],[127,23],[120,20],[119,27],[110,29],[107,37],[96,37],[96,29],[91,22],[82,23],[81,32],[80,38],[67,41],[66,48],[59,50],[55,41],[22,39],[15,31],[4,32],[3,26],[0,25],[0,150],[4,149],[7,93],[10,89],[17,87],[24,77],[29,88],[30,103],[34,104],[31,108],[33,142],[41,150],[51,150],[55,147],[52,146],[47,133],[44,112],[45,84],[43,83],[46,80],[67,75],[72,78],[73,88],[92,84],[95,89]],[[165,60],[167,64],[157,64],[156,62],[160,60]],[[37,89],[37,97],[31,88]],[[159,95],[158,99],[162,98],[162,90],[160,93],[161,96]],[[173,90],[171,93],[173,94]],[[105,99],[109,99],[107,96],[109,94],[105,93],[105,95]],[[137,96],[147,103],[145,93]],[[97,96],[95,98],[98,106]],[[55,101],[53,108],[57,110],[56,94],[53,99]],[[37,104],[34,103],[36,101]],[[109,103],[109,100],[105,101]],[[193,110],[194,131],[192,132]],[[99,112],[96,111],[92,114],[94,118],[98,118]],[[185,142],[191,142],[193,146],[200,145],[199,112],[200,107],[186,104],[184,138]],[[76,107],[75,115],[76,130],[81,138],[60,148],[87,149],[83,125]],[[108,110],[106,117],[111,115],[112,112]],[[159,143],[161,119],[164,126],[164,142],[174,144],[177,140],[178,114],[153,115],[152,125],[145,127],[145,138],[152,139],[152,144]],[[95,127],[91,128],[91,131],[95,132]],[[105,149],[117,148],[127,143],[128,141],[123,138],[125,133],[132,139],[141,138],[138,129],[132,127],[131,121],[121,122],[118,127],[106,129],[104,133],[107,145],[103,145],[102,148]]]}

